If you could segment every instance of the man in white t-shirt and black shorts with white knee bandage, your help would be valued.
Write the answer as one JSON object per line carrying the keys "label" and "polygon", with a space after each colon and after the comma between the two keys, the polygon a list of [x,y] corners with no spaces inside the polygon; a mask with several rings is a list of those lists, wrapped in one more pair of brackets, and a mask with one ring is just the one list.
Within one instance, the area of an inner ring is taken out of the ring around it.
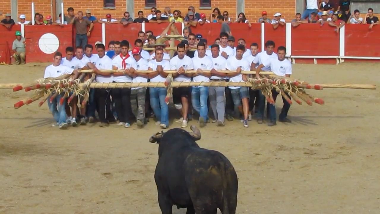
{"label": "man in white t-shirt and black shorts with white knee bandage", "polygon": [[[177,45],[177,56],[174,56],[170,60],[170,70],[177,70],[177,73],[173,73],[174,81],[190,82],[193,76],[191,73],[185,73],[187,70],[193,70],[193,61],[190,57],[186,56],[185,53],[185,44],[179,43]],[[173,102],[176,109],[178,109],[182,115],[178,120],[179,123],[182,123],[182,128],[187,127],[188,98],[191,95],[190,91],[191,88],[189,87],[173,88]]]}

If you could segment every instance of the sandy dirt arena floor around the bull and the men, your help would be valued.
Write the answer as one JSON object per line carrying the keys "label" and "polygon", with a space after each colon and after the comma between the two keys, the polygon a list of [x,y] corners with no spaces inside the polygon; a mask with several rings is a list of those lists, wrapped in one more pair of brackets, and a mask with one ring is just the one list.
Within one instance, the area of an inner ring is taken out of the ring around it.
{"label": "sandy dirt arena floor around the bull and the men", "polygon": [[[27,83],[46,65],[0,66],[0,82]],[[379,86],[379,65],[294,65],[293,77]],[[293,104],[291,124],[251,121],[243,128],[235,120],[201,129],[198,144],[222,152],[236,169],[237,213],[380,213],[379,89],[310,93],[326,104]],[[158,126],[59,130],[47,104],[13,108],[26,95],[0,89],[0,213],[161,213],[153,177],[158,146],[149,143]],[[279,113],[282,101],[276,105]],[[173,120],[171,128],[179,128]]]}

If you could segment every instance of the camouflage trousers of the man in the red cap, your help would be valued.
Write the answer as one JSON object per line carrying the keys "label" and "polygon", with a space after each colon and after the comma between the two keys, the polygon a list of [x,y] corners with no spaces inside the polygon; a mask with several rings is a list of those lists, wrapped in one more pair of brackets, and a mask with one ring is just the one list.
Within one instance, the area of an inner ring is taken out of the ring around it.
{"label": "camouflage trousers of the man in the red cap", "polygon": [[[137,120],[144,122],[145,120],[145,94],[146,88],[133,89],[131,91],[132,111]],[[137,109],[137,114],[135,113]]]}

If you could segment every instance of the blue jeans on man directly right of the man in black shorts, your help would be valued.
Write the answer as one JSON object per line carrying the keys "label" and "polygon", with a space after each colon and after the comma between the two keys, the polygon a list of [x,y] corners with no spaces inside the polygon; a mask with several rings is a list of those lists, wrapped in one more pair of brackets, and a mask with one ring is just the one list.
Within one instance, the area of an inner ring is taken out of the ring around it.
{"label": "blue jeans on man directly right of the man in black shorts", "polygon": [[204,120],[207,120],[207,98],[209,97],[209,87],[193,86],[191,91],[191,102],[193,108]]}

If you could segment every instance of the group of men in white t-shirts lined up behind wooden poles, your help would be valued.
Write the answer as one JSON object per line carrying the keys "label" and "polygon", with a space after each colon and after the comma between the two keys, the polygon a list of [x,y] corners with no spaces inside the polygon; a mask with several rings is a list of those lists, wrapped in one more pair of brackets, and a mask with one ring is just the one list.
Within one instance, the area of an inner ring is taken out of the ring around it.
{"label": "group of men in white t-shirts lined up behind wooden poles", "polygon": [[[256,119],[259,124],[262,124],[265,98],[260,90],[250,90],[247,87],[241,86],[208,87],[203,86],[202,83],[209,81],[247,81],[248,76],[242,74],[242,71],[249,70],[256,70],[256,78],[259,78],[258,72],[260,70],[271,70],[276,75],[289,77],[291,75],[291,63],[285,59],[286,49],[280,46],[276,54],[273,52],[275,47],[274,42],[268,41],[265,43],[266,50],[260,53],[258,53],[258,45],[256,43],[250,46],[250,50],[247,50],[245,45],[239,44],[236,47],[236,51],[234,51],[227,44],[228,37],[228,34],[221,33],[221,45],[212,45],[211,50],[207,51],[208,54],[206,54],[207,41],[203,40],[204,42],[199,42],[196,50],[197,54],[193,58],[186,55],[184,43],[177,45],[177,55],[170,60],[163,59],[164,51],[162,48],[156,48],[154,50],[155,57],[154,59],[150,59],[149,62],[141,56],[142,47],[135,47],[128,53],[130,45],[126,40],[121,42],[120,54],[112,59],[105,55],[105,46],[103,44],[97,44],[96,55],[92,54],[91,45],[87,45],[85,50],[78,47],[75,50],[76,57],[73,57],[73,48],[69,47],[66,50],[65,58],[62,58],[62,54],[60,53],[55,54],[54,63],[46,68],[45,77],[57,77],[58,74],[71,73],[74,73],[78,77],[78,69],[93,69],[93,73],[96,75],[95,80],[98,83],[165,82],[168,73],[164,72],[164,70],[177,70],[177,73],[173,74],[174,81],[199,83],[199,86],[173,88],[174,105],[182,115],[176,122],[181,123],[182,128],[187,127],[190,108],[199,113],[199,125],[201,127],[206,126],[206,123],[209,121],[207,101],[209,101],[214,116],[212,122],[216,123],[217,126],[225,126],[225,117],[231,114],[234,106],[236,106],[243,115],[243,126],[249,127],[250,111],[253,109],[253,103],[256,99]],[[251,54],[246,54],[247,52]],[[57,61],[59,61],[59,64],[57,64]],[[106,73],[101,71],[111,69],[123,70],[123,72]],[[136,70],[152,70],[154,72],[142,73],[136,72]],[[186,73],[185,71],[187,70],[194,70],[195,72]],[[211,70],[211,72],[204,72],[206,70]],[[231,70],[233,72],[220,72],[222,70]],[[89,76],[86,78],[89,78]],[[148,100],[157,119],[156,124],[163,129],[168,128],[169,108],[165,100],[166,93],[166,88],[149,88],[149,93],[147,93],[147,88],[144,87],[97,88],[90,93],[90,103],[93,101],[95,105],[92,105],[92,108],[88,107],[87,112],[86,106],[81,108],[80,124],[86,125],[86,115],[90,117],[90,121],[91,118],[94,120],[95,109],[97,109],[100,126],[109,126],[110,122],[115,121],[111,111],[112,101],[119,120],[117,126],[128,128],[131,127],[131,123],[136,121],[137,125],[141,128],[147,122],[145,101],[146,95],[148,95]],[[272,94],[275,100],[278,93],[272,91]],[[57,97],[62,98],[62,96]],[[283,101],[284,106],[279,115],[279,121],[291,122],[287,118],[290,105],[285,99]],[[136,106],[138,107],[136,116],[133,114],[131,102],[136,102]],[[78,125],[75,119],[76,115],[78,115],[77,100],[73,99],[70,104],[71,111],[70,107],[62,107],[59,102],[49,104],[49,109],[57,122],[54,126],[65,129],[70,122],[73,126]],[[267,115],[269,117],[268,126],[276,125],[274,105],[268,103]],[[67,116],[69,116],[68,120],[70,121],[63,120]]]}

